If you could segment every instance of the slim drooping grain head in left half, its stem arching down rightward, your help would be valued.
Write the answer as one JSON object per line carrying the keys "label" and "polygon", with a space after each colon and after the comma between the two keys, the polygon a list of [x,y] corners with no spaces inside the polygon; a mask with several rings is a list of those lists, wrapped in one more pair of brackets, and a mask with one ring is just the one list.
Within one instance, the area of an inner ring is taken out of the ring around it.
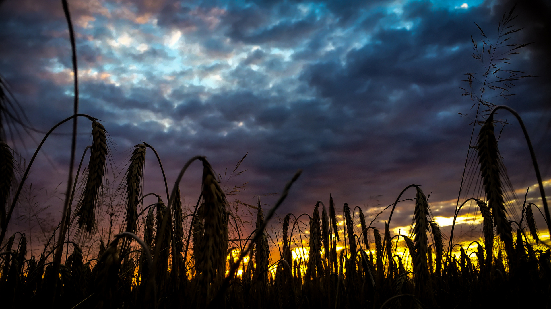
{"label": "slim drooping grain head in left half, its stem arching down rightward", "polygon": [[134,152],[130,158],[130,165],[126,172],[126,231],[136,233],[138,220],[138,201],[141,194],[142,169],[145,162],[145,145],[134,146]]}

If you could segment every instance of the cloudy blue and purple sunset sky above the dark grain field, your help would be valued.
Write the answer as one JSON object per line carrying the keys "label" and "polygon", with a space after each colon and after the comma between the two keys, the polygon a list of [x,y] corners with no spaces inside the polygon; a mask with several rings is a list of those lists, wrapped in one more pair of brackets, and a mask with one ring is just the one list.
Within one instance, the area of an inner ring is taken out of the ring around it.
{"label": "cloudy blue and purple sunset sky above the dark grain field", "polygon": [[[478,24],[495,42],[498,22],[513,5],[72,0],[79,112],[102,120],[116,173],[125,172],[141,141],[159,152],[169,184],[197,154],[207,156],[226,184],[224,171],[229,175],[247,154],[239,168],[246,171],[226,186],[247,182],[240,200],[253,203],[260,195],[265,208],[296,170],[304,170],[281,216],[311,212],[317,200],[328,205],[329,193],[338,207],[347,202],[371,214],[403,187],[419,184],[430,193],[434,216],[449,218],[476,113],[476,102],[460,87],[468,88],[465,73],[484,71],[472,57],[471,36],[482,44]],[[551,179],[550,9],[538,0],[518,4],[513,24],[523,30],[510,42],[534,43],[512,55],[510,64],[500,64],[538,77],[515,81],[509,100],[484,94],[521,114],[545,180]],[[0,74],[30,124],[47,131],[73,106],[61,2],[0,1],[0,29]],[[501,156],[514,189],[526,191],[536,183],[526,142],[509,114],[499,116],[510,123],[501,132]],[[37,201],[52,205],[53,217],[62,204],[70,130],[70,124],[62,126],[62,134],[48,139],[28,180]],[[90,131],[79,120],[77,158],[91,143]],[[12,141],[21,160],[29,160],[33,139],[42,136],[22,134]],[[145,191],[164,192],[156,164],[149,151]],[[197,163],[182,180],[186,201],[195,203],[200,179]],[[408,192],[404,197],[413,198]],[[407,227],[412,202],[397,210],[392,228]]]}

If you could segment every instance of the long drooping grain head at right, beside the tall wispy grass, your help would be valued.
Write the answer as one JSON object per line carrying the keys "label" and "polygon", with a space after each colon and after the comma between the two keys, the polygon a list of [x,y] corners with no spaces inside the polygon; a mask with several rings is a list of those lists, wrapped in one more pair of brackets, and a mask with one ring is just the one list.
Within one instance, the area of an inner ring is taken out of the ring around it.
{"label": "long drooping grain head at right, beside the tall wispy grass", "polygon": [[486,119],[478,134],[478,162],[482,176],[484,192],[488,206],[494,218],[494,224],[501,240],[505,244],[507,256],[514,255],[512,246],[511,224],[507,220],[503,190],[500,179],[501,159],[498,142],[494,135],[494,117]]}

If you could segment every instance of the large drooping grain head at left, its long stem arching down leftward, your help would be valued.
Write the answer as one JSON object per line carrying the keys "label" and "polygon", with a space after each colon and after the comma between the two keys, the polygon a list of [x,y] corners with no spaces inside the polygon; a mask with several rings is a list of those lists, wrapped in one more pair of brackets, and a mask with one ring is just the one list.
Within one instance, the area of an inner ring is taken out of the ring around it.
{"label": "large drooping grain head at left, its long stem arching down leftward", "polygon": [[92,146],[90,147],[90,161],[88,163],[88,179],[84,187],[82,201],[77,208],[78,227],[90,233],[95,227],[96,208],[99,203],[98,195],[101,191],[107,158],[107,137],[105,128],[99,122],[92,121]]}

